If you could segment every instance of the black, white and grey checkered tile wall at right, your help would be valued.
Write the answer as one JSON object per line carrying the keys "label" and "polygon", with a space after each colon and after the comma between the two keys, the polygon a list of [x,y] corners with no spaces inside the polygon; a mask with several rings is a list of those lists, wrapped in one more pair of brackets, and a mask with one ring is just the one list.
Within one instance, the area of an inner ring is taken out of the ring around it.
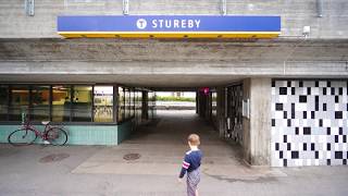
{"label": "black, white and grey checkered tile wall at right", "polygon": [[347,164],[348,82],[273,81],[273,167]]}

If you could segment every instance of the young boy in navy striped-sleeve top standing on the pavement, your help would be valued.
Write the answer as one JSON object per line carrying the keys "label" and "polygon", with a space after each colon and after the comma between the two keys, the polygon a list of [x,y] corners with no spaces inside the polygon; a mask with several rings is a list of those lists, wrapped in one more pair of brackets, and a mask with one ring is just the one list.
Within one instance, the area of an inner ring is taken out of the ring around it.
{"label": "young boy in navy striped-sleeve top standing on the pavement", "polygon": [[202,152],[200,149],[198,149],[200,140],[197,134],[190,134],[187,140],[190,150],[185,155],[178,181],[182,182],[182,179],[187,171],[187,195],[198,196],[197,185],[200,181],[199,167],[202,159]]}

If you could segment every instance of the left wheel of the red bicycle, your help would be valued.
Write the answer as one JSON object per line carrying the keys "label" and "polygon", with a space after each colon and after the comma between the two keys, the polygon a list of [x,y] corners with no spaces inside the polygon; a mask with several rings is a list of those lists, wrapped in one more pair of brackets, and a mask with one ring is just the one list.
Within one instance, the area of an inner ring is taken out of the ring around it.
{"label": "left wheel of the red bicycle", "polygon": [[12,132],[8,140],[13,146],[30,145],[37,138],[36,133],[30,128],[20,128]]}

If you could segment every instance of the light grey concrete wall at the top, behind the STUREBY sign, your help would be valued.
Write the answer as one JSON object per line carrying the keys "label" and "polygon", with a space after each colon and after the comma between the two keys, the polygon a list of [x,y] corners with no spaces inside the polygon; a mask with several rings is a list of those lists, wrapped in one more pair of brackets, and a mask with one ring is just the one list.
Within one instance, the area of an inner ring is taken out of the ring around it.
{"label": "light grey concrete wall at the top, behind the STUREBY sign", "polygon": [[[226,0],[231,15],[281,15],[282,36],[299,36],[311,26],[312,38],[348,38],[348,3],[323,0]],[[220,0],[130,0],[129,14],[220,14]],[[0,38],[42,38],[57,35],[58,15],[122,14],[121,0],[36,0],[35,16],[26,16],[24,0],[0,1]]]}

